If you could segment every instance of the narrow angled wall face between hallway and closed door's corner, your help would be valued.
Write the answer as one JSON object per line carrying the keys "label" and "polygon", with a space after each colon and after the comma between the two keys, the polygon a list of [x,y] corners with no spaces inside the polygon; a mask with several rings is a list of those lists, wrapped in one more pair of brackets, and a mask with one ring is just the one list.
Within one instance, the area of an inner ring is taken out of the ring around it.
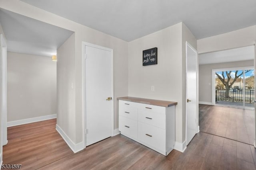
{"label": "narrow angled wall face between hallway and closed door's corner", "polygon": [[75,141],[75,33],[57,49],[57,125]]}

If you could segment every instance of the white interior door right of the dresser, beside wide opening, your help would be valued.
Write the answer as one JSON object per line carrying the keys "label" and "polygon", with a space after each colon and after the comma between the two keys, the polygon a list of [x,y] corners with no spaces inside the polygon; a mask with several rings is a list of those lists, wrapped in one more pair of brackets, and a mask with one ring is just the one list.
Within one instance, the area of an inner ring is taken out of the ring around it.
{"label": "white interior door right of the dresser, beside wide opening", "polygon": [[198,54],[186,43],[186,141],[187,145],[197,133],[198,127]]}

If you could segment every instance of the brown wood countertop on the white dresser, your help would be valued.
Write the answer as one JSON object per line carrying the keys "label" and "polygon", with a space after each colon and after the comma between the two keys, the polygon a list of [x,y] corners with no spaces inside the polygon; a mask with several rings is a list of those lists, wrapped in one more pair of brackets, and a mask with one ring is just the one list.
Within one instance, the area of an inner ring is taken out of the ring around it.
{"label": "brown wood countertop on the white dresser", "polygon": [[134,98],[134,97],[120,97],[117,98],[117,100],[125,100],[129,102],[136,102],[136,103],[143,103],[143,104],[151,104],[155,106],[163,106],[163,107],[170,107],[177,105],[177,102],[170,102],[170,101],[164,101],[164,100],[152,100],[152,99],[144,99],[144,98]]}

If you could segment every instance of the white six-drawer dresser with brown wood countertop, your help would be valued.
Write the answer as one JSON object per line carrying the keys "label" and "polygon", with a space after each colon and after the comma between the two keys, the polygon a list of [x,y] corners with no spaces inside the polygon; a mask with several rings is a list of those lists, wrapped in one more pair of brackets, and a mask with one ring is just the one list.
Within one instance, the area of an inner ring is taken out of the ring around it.
{"label": "white six-drawer dresser with brown wood countertop", "polygon": [[121,134],[167,156],[175,143],[177,102],[133,97],[118,100]]}

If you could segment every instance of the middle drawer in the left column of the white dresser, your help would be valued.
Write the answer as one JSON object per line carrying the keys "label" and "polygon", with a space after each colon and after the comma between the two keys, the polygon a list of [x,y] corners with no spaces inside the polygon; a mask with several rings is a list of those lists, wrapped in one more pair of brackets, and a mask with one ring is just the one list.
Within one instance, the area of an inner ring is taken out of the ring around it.
{"label": "middle drawer in the left column of the white dresser", "polygon": [[138,120],[138,109],[130,105],[119,105],[119,115],[127,117],[129,119]]}

